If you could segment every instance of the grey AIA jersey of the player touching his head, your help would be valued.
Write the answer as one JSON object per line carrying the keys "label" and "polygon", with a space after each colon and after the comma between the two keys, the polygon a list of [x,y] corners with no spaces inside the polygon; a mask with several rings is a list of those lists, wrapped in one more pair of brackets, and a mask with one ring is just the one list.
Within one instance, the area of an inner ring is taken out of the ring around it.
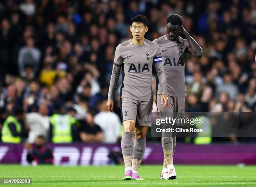
{"label": "grey AIA jersey of the player touching his head", "polygon": [[[164,35],[153,42],[161,48],[168,95],[173,97],[186,96],[184,67],[189,48],[188,41],[182,37],[179,37],[177,41],[171,41]],[[159,80],[156,80],[156,94],[161,93],[161,85],[159,85]]]}

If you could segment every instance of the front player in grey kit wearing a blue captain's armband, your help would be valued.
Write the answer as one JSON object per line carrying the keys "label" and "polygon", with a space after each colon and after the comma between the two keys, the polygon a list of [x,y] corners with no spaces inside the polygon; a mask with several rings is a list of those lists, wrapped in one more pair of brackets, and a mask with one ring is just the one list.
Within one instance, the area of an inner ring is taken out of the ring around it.
{"label": "front player in grey kit wearing a blue captain's armband", "polygon": [[147,23],[144,15],[137,15],[131,19],[130,30],[133,38],[116,48],[108,93],[108,110],[113,112],[113,95],[122,67],[120,105],[124,129],[121,141],[125,164],[123,180],[143,180],[138,176],[138,167],[146,147],[146,132],[148,127],[151,127],[153,64],[162,87],[159,102],[163,104],[164,101],[164,105],[161,108],[166,107],[169,102],[160,47],[144,38],[145,32],[148,31]]}

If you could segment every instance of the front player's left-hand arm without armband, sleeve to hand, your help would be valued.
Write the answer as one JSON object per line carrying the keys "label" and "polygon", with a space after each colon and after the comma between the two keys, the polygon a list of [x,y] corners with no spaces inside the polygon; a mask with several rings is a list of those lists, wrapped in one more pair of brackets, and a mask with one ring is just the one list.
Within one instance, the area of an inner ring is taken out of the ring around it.
{"label": "front player's left-hand arm without armband, sleeve to hand", "polygon": [[113,112],[114,111],[114,94],[115,90],[117,87],[117,83],[119,80],[119,75],[121,71],[121,66],[123,63],[123,58],[119,55],[119,45],[116,47],[115,50],[115,60],[114,60],[114,65],[113,65],[113,70],[111,74],[111,79],[110,79],[110,85],[109,85],[109,92],[108,92],[108,111]]}

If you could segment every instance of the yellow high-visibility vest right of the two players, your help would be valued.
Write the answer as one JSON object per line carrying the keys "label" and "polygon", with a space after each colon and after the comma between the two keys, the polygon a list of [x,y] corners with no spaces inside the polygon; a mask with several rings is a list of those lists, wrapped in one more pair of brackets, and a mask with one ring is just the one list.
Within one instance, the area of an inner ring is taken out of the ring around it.
{"label": "yellow high-visibility vest right of the two players", "polygon": [[195,117],[197,119],[202,119],[202,124],[196,123],[195,127],[197,129],[202,129],[203,132],[197,132],[197,137],[194,139],[194,144],[200,145],[200,144],[210,144],[212,142],[212,126],[210,119],[206,116],[197,116]]}

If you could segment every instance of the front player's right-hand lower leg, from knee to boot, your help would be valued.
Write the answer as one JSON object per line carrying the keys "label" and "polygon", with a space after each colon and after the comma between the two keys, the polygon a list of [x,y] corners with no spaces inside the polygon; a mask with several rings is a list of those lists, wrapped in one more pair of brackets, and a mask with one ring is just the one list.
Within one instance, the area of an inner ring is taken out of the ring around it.
{"label": "front player's right-hand lower leg, from knee to boot", "polygon": [[138,176],[138,168],[141,164],[141,160],[146,148],[147,130],[148,130],[148,127],[141,127],[141,126],[136,127],[135,129],[135,142],[133,146],[133,162],[132,162],[134,180],[143,180],[141,177]]}

